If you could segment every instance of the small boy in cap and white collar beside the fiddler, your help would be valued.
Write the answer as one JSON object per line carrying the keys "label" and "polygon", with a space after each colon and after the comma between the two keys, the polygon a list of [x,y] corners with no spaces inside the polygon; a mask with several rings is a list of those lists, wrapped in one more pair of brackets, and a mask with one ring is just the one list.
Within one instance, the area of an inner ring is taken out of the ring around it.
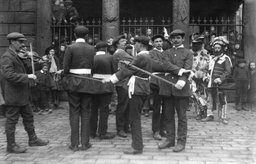
{"label": "small boy in cap and white collar beside the fiddler", "polygon": [[[49,110],[46,98],[46,91],[49,90],[49,85],[47,84],[47,74],[49,73],[49,65],[47,63],[44,63],[42,67],[43,68],[40,71],[35,72],[35,75],[38,79],[36,88],[38,90],[38,102],[43,107],[42,109],[47,111]],[[50,110],[49,112],[51,112]]]}

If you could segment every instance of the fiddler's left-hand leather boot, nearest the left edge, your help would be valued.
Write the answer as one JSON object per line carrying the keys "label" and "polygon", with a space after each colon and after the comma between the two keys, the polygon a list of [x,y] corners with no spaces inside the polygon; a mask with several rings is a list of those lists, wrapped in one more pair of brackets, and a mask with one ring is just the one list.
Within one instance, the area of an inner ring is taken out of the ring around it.
{"label": "fiddler's left-hand leather boot, nearest the left edge", "polygon": [[7,138],[7,152],[13,152],[13,153],[21,153],[25,152],[27,149],[25,147],[20,147],[15,143],[15,134],[6,134]]}

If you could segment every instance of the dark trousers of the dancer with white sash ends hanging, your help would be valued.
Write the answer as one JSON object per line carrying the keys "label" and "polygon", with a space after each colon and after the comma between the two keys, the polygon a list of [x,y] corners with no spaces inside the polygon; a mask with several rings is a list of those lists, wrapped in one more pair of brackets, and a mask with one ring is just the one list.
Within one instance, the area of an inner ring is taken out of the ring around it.
{"label": "dark trousers of the dancer with white sash ends hanging", "polygon": [[143,138],[141,132],[141,109],[148,96],[132,95],[130,104],[130,124],[131,124],[131,146],[134,149],[143,149]]}

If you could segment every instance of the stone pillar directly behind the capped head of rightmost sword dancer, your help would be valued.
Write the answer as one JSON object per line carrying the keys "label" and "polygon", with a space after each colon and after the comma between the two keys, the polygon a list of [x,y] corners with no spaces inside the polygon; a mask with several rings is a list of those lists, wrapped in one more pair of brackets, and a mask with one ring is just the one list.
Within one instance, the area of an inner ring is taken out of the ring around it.
{"label": "stone pillar directly behind the capped head of rightmost sword dancer", "polygon": [[173,0],[172,2],[172,29],[185,32],[184,46],[189,49],[189,0]]}

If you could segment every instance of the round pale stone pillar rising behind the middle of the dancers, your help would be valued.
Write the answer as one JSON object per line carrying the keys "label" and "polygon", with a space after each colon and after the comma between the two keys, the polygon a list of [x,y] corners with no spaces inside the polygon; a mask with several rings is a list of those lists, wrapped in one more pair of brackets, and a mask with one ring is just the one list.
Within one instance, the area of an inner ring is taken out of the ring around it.
{"label": "round pale stone pillar rising behind the middle of the dancers", "polygon": [[119,0],[102,1],[102,41],[119,36]]}

